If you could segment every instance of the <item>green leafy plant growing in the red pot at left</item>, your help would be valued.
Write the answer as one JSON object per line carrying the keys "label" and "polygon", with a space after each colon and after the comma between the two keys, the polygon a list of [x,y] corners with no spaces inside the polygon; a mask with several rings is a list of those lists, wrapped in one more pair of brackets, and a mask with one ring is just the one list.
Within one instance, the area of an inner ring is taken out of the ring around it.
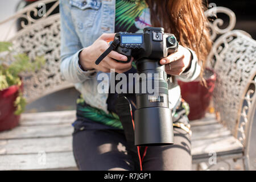
{"label": "green leafy plant growing in the red pot at left", "polygon": [[[6,55],[10,55],[13,52],[11,47],[12,44],[9,42],[0,42],[0,52],[6,52]],[[0,57],[0,90],[7,89],[12,85],[20,86],[22,84],[20,73],[34,72],[40,69],[46,62],[43,56],[38,56],[35,60],[30,60],[26,53],[17,53],[13,56],[14,59],[11,63],[7,63],[6,57]],[[25,109],[26,100],[20,89],[14,106],[16,107],[14,113],[16,115],[21,114]]]}

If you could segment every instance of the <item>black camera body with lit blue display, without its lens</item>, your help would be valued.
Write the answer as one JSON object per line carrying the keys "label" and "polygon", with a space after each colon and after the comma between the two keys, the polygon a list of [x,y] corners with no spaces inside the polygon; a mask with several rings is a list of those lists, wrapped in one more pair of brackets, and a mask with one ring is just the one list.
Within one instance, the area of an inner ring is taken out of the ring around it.
{"label": "black camera body with lit blue display, without its lens", "polygon": [[164,28],[155,27],[146,27],[141,34],[118,32],[115,39],[120,42],[115,51],[127,56],[128,61],[131,57],[137,61],[142,58],[162,59],[176,52],[179,46],[174,34],[164,33]]}

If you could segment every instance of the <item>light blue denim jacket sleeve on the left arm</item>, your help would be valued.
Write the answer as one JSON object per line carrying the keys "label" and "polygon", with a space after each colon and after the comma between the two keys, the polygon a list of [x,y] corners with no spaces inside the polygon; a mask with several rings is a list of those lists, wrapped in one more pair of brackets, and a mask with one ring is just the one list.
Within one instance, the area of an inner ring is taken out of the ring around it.
{"label": "light blue denim jacket sleeve on the left arm", "polygon": [[95,77],[96,71],[83,71],[79,66],[79,53],[83,47],[76,34],[69,6],[69,1],[60,0],[60,71],[65,80],[76,84]]}

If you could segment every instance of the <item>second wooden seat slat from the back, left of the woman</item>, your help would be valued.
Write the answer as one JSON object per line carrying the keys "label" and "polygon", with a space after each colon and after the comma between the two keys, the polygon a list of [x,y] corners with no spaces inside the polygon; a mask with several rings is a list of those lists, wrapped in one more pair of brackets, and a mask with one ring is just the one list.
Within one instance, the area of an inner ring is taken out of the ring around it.
{"label": "second wooden seat slat from the back, left of the woman", "polygon": [[73,132],[71,124],[46,126],[19,126],[0,133],[0,139],[43,138],[69,136]]}

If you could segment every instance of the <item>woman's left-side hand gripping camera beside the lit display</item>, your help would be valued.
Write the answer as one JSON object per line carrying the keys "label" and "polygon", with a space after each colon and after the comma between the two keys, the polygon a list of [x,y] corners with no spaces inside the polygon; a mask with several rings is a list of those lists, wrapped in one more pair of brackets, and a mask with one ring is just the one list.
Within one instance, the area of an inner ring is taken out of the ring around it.
{"label": "woman's left-side hand gripping camera beside the lit display", "polygon": [[[117,73],[123,73],[131,69],[131,61],[128,63],[118,63],[115,60],[127,61],[127,57],[118,52],[111,51],[100,64],[95,61],[109,48],[109,41],[114,39],[115,34],[102,34],[91,46],[84,48],[79,55],[79,62],[84,70],[97,69],[109,73],[110,69],[115,69]],[[115,59],[115,60],[114,60]]]}

